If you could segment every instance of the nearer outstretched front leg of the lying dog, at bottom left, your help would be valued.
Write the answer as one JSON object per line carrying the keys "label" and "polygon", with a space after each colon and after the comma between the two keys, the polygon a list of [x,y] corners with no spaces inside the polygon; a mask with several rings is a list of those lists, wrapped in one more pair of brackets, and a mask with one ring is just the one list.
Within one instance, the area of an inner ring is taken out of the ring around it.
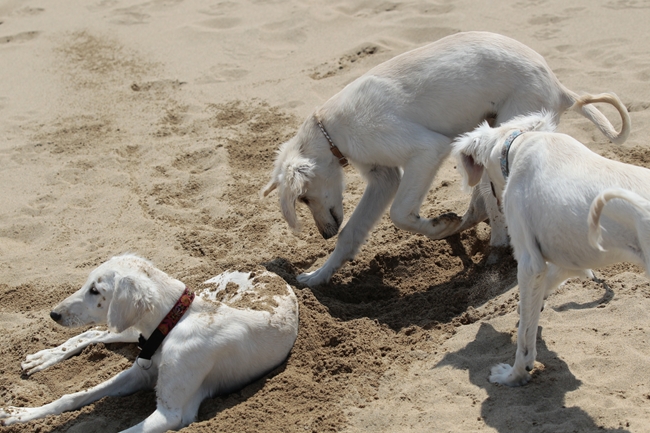
{"label": "nearer outstretched front leg of the lying dog, at bottom left", "polygon": [[58,400],[40,407],[7,407],[0,409],[0,424],[10,425],[59,415],[63,412],[79,409],[103,397],[133,394],[136,391],[152,388],[155,368],[143,370],[137,365],[119,373],[117,376],[86,390],[67,394]]}

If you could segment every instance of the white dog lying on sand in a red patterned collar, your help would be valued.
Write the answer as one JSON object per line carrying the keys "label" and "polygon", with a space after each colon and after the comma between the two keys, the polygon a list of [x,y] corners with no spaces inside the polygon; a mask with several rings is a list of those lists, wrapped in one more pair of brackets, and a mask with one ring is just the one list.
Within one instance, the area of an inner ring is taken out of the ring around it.
{"label": "white dog lying on sand in a red patterned collar", "polygon": [[140,356],[131,368],[89,390],[41,407],[0,410],[2,424],[155,387],[156,411],[125,431],[179,429],[196,419],[205,398],[241,388],[281,364],[298,333],[298,302],[291,287],[264,270],[226,272],[206,284],[194,298],[182,282],[134,255],[99,266],[50,316],[63,326],[107,324],[110,331],[90,330],[28,356],[23,369],[32,374],[89,344],[138,342],[144,335],[148,340]]}

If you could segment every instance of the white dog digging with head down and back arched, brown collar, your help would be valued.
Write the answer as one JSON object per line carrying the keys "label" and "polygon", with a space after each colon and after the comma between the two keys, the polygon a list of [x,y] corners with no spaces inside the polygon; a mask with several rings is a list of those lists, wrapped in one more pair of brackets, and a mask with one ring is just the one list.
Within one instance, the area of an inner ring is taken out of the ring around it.
{"label": "white dog digging with head down and back arched, brown collar", "polygon": [[[296,201],[306,204],[327,239],[338,233],[343,221],[341,165],[349,160],[367,180],[332,255],[320,269],[299,275],[298,281],[310,286],[329,281],[354,258],[391,201],[390,217],[401,229],[440,239],[489,216],[490,244],[507,246],[498,206],[491,197],[484,203],[480,194],[489,191],[489,185],[475,191],[462,219],[455,214],[421,218],[422,201],[453,137],[484,119],[499,125],[541,109],[557,121],[577,99],[542,56],[513,39],[486,32],[448,36],[353,81],[281,146],[271,181],[262,191],[266,196],[278,188],[282,213],[294,229]],[[617,134],[596,108],[573,108],[611,141],[627,138],[629,128]]]}

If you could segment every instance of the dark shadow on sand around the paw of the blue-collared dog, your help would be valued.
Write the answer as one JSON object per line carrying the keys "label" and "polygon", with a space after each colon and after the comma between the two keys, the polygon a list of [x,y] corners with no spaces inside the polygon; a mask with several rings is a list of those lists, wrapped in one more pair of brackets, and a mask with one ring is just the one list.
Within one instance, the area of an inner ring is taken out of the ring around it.
{"label": "dark shadow on sand around the paw of the blue-collared dog", "polygon": [[[533,378],[523,387],[511,388],[488,381],[490,368],[504,360],[514,361],[516,346],[507,332],[481,323],[474,341],[448,353],[433,368],[451,366],[466,370],[472,384],[484,389],[488,397],[481,404],[481,418],[499,432],[573,432],[599,431],[629,433],[623,428],[608,429],[577,406],[567,407],[565,395],[581,382],[571,374],[567,364],[537,338],[537,360],[543,369],[533,370]],[[511,359],[509,359],[511,358]]]}

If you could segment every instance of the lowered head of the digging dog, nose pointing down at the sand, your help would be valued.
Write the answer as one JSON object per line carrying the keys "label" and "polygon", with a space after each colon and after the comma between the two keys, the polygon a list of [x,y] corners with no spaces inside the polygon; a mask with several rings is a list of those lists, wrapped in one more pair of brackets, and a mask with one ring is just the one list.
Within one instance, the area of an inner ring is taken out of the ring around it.
{"label": "lowered head of the digging dog, nose pointing down at the sand", "polygon": [[271,181],[262,194],[266,197],[278,189],[282,215],[295,231],[299,230],[296,203],[305,204],[320,234],[329,239],[343,222],[343,170],[319,134],[303,125],[280,147]]}

